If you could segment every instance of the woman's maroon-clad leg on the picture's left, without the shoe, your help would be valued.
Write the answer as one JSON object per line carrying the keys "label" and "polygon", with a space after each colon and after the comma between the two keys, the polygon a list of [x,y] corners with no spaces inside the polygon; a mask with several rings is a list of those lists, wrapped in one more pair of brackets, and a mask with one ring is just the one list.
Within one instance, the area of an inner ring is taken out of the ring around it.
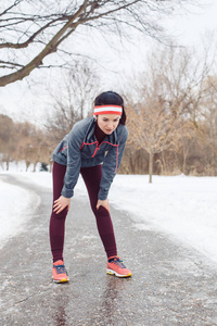
{"label": "woman's maroon-clad leg on the picture's left, without the shoe", "polygon": [[[58,164],[56,162],[53,163],[53,202],[61,196],[65,171],[65,165]],[[53,262],[56,262],[59,260],[63,261],[66,215],[67,208],[65,208],[61,213],[56,214],[55,212],[53,212],[52,206],[52,213],[50,218],[50,243],[53,255]]]}

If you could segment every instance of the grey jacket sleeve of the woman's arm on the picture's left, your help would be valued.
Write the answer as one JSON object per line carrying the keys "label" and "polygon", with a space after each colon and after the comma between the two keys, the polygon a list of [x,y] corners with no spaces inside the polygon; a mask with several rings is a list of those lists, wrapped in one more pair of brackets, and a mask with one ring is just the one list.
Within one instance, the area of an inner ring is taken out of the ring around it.
{"label": "grey jacket sleeve of the woman's arm on the picture's left", "polygon": [[64,186],[61,192],[61,195],[66,198],[74,196],[74,188],[78,180],[81,166],[80,147],[82,145],[82,131],[75,125],[68,134],[67,167],[64,177]]}

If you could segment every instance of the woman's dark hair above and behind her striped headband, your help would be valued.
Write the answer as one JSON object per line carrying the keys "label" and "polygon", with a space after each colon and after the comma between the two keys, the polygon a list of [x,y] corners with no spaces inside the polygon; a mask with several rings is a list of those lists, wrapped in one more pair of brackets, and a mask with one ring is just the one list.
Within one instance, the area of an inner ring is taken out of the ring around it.
{"label": "woman's dark hair above and behind her striped headband", "polygon": [[123,98],[115,91],[108,90],[104,91],[101,95],[99,95],[94,100],[94,105],[119,105],[123,108],[123,114],[119,120],[119,123],[122,125],[126,124],[127,116],[124,108],[124,100]]}

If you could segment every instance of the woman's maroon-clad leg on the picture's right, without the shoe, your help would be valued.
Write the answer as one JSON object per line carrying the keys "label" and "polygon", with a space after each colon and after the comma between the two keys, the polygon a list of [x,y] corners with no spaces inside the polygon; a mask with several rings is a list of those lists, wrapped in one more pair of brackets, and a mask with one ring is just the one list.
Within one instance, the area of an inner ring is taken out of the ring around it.
{"label": "woman's maroon-clad leg on the picture's right, without the shoe", "polygon": [[97,218],[98,230],[103,242],[107,258],[117,254],[115,236],[110,213],[103,206],[97,210],[98,193],[100,190],[100,181],[102,177],[102,166],[82,167],[80,173],[85,180],[92,211]]}

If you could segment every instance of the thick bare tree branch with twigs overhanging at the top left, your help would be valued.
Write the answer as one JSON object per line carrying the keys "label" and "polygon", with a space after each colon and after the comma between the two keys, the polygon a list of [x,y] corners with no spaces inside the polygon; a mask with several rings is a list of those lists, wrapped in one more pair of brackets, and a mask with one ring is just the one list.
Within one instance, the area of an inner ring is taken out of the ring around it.
{"label": "thick bare tree branch with twigs overhanging at the top left", "polygon": [[[77,29],[86,27],[103,33],[137,28],[153,38],[163,40],[159,15],[171,14],[187,0],[8,0],[1,1],[0,86],[22,80],[35,68],[51,66],[46,60],[59,51],[58,65],[73,53],[64,42]],[[82,30],[82,29],[81,29]],[[7,51],[3,51],[7,50]],[[56,58],[56,57],[55,57]]]}

